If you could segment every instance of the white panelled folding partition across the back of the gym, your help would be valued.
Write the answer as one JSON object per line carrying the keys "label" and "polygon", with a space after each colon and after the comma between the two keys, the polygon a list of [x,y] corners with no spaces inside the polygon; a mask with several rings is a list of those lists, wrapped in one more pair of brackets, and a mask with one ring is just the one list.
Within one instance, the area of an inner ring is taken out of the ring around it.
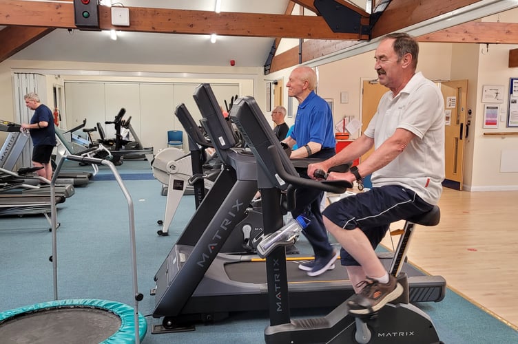
{"label": "white panelled folding partition across the back of the gym", "polygon": [[[220,80],[206,80],[216,99],[224,107],[225,100],[240,93],[240,83],[233,80],[222,83]],[[188,149],[187,133],[174,115],[176,107],[184,103],[195,122],[201,118],[192,94],[198,83],[144,83],[114,81],[65,81],[65,99],[67,120],[70,127],[80,125],[87,120],[87,128],[100,123],[105,138],[115,137],[112,122],[118,112],[124,108],[123,120],[131,118],[132,128],[141,140],[143,147],[153,147],[154,153],[167,148],[167,131],[183,131],[183,148]],[[92,139],[100,138],[99,133],[91,133]]]}

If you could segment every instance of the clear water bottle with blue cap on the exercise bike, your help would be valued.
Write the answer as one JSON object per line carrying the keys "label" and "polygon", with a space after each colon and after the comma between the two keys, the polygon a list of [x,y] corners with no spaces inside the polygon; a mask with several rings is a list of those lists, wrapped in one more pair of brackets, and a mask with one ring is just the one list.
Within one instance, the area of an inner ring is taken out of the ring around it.
{"label": "clear water bottle with blue cap on the exercise bike", "polygon": [[257,254],[265,258],[278,246],[288,246],[295,244],[295,238],[309,224],[309,219],[299,215],[296,219],[291,219],[282,228],[274,233],[265,236],[257,246]]}

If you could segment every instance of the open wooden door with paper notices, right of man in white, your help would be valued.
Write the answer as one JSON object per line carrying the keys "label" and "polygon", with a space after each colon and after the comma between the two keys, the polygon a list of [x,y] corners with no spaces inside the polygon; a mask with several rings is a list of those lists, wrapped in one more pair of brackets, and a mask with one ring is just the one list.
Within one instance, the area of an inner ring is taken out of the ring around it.
{"label": "open wooden door with paper notices, right of man in white", "polygon": [[440,83],[444,97],[446,118],[444,137],[444,157],[446,180],[443,186],[462,190],[464,167],[464,146],[468,137],[466,125],[466,104],[468,100],[468,80],[453,80]]}

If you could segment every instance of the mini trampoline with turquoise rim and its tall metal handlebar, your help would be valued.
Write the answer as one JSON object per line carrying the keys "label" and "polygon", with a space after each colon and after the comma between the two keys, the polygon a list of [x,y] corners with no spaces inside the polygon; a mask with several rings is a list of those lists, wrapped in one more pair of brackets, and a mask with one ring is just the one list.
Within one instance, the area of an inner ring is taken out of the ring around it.
{"label": "mini trampoline with turquoise rim and its tall metal handlebar", "polygon": [[[66,158],[66,159],[64,159]],[[130,227],[130,248],[132,253],[132,284],[134,307],[114,301],[97,299],[58,298],[58,266],[56,244],[56,178],[65,160],[102,164],[108,166],[127,200]],[[56,166],[50,182],[52,215],[52,275],[54,300],[28,305],[0,313],[0,342],[2,344],[48,344],[48,343],[136,343],[143,340],[147,332],[147,321],[138,313],[138,301],[143,294],[138,292],[136,273],[135,219],[133,200],[127,191],[121,175],[109,160],[79,155],[65,155]]]}

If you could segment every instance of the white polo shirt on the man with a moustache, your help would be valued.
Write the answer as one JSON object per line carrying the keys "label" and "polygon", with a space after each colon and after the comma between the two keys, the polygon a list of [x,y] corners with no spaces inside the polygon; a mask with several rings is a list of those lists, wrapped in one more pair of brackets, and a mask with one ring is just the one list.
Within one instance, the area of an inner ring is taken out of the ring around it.
{"label": "white polo shirt on the man with a moustache", "polygon": [[415,134],[392,162],[373,172],[373,186],[401,185],[429,204],[437,204],[444,180],[444,100],[439,87],[416,73],[393,97],[384,94],[365,135],[375,149],[402,128]]}

